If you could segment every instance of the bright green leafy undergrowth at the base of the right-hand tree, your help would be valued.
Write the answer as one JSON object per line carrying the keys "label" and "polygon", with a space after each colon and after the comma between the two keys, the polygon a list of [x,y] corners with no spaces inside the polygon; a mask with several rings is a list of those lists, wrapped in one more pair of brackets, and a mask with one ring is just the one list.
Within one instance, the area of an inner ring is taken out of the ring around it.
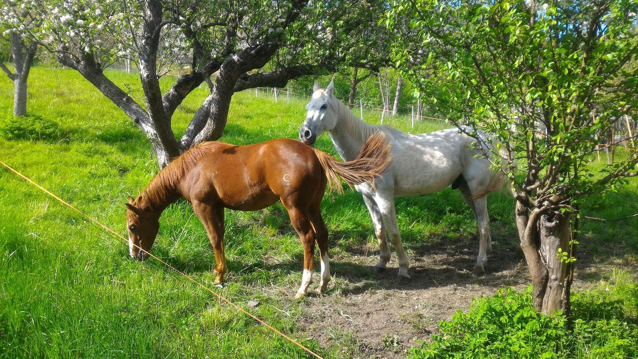
{"label": "bright green leafy undergrowth at the base of the right-hand tree", "polygon": [[637,289],[631,283],[619,284],[613,293],[575,294],[572,328],[562,314],[534,310],[530,289],[501,289],[475,300],[467,313],[442,321],[440,334],[412,348],[408,358],[636,358],[638,323],[631,316]]}

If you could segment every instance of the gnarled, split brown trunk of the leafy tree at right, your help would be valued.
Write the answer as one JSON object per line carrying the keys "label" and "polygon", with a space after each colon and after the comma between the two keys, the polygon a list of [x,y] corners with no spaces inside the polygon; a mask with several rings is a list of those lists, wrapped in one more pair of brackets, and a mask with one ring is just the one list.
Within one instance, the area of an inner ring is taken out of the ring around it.
{"label": "gnarled, split brown trunk of the leafy tree at right", "polygon": [[521,248],[530,271],[533,305],[547,315],[558,310],[569,312],[571,263],[558,256],[558,248],[567,252],[571,240],[571,215],[553,211],[530,213],[516,204],[516,225]]}

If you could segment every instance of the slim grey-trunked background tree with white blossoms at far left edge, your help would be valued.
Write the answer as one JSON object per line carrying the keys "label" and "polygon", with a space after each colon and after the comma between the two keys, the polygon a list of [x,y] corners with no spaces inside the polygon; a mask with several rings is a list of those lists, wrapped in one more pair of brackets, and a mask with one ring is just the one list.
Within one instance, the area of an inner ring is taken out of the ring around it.
{"label": "slim grey-trunked background tree with white blossoms at far left edge", "polygon": [[0,4],[0,31],[11,49],[13,72],[0,61],[0,68],[13,81],[13,116],[27,114],[27,79],[38,50],[38,43],[29,41],[27,29],[40,26],[33,13],[24,10],[18,1]]}

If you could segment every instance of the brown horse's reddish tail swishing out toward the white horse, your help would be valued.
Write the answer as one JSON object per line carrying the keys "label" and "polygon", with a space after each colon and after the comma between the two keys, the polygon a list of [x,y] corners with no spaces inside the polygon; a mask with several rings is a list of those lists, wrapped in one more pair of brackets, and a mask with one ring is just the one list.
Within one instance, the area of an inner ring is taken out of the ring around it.
{"label": "brown horse's reddish tail swishing out toward the white horse", "polygon": [[328,188],[343,192],[339,177],[348,185],[370,183],[375,187],[375,178],[385,172],[392,163],[390,144],[382,132],[376,132],[367,139],[357,157],[352,161],[341,162],[316,148],[315,155],[328,178]]}

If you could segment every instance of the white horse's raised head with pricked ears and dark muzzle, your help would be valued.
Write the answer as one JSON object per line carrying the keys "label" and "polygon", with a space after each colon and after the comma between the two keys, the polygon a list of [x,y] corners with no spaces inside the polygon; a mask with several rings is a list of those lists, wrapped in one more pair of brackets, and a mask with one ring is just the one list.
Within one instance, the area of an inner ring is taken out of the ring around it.
{"label": "white horse's raised head with pricked ears and dark muzzle", "polygon": [[325,89],[320,89],[318,82],[315,82],[313,96],[306,106],[306,121],[299,128],[301,142],[312,146],[319,135],[337,125],[339,103],[332,95],[333,90],[334,79]]}

